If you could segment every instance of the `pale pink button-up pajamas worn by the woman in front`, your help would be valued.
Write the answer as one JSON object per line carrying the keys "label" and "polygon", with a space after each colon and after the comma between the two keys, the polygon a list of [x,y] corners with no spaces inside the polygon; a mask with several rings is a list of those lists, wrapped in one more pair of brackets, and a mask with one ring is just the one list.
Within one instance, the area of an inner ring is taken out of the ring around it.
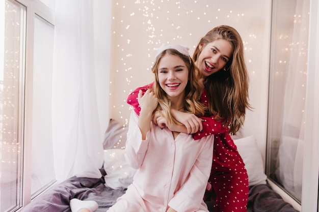
{"label": "pale pink button-up pajamas worn by the woman in front", "polygon": [[126,193],[108,211],[165,212],[208,211],[203,201],[211,170],[214,136],[195,141],[192,135],[179,133],[175,138],[168,129],[151,124],[142,140],[132,111],[125,157],[138,169]]}

